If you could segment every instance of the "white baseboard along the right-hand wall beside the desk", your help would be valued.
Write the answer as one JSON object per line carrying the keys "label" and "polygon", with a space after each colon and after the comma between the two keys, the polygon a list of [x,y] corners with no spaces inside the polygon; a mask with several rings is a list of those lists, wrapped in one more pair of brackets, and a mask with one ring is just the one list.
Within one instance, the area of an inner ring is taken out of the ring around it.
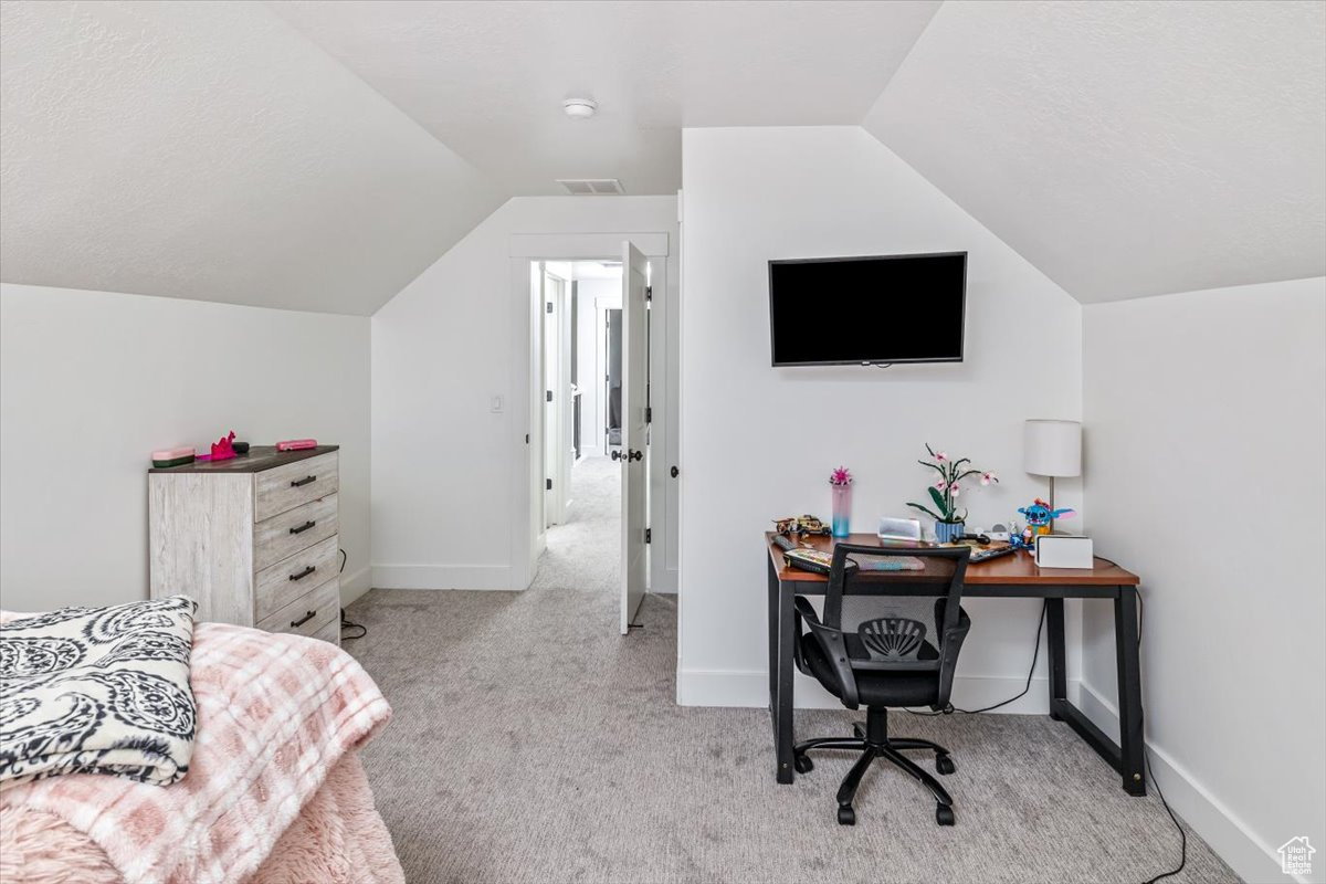
{"label": "white baseboard along the right-hand wall beside the desk", "polygon": [[[1082,683],[1077,706],[1110,740],[1119,740],[1119,710],[1114,701]],[[1280,871],[1276,844],[1258,838],[1238,815],[1211,794],[1166,750],[1147,744],[1151,755],[1151,774],[1160,785],[1166,802],[1174,812],[1188,823],[1220,859],[1229,864],[1245,881],[1294,880],[1307,884],[1310,879],[1289,876]],[[1152,790],[1155,791],[1155,790]],[[1290,832],[1298,835],[1301,832]],[[1286,839],[1289,835],[1285,836]]]}

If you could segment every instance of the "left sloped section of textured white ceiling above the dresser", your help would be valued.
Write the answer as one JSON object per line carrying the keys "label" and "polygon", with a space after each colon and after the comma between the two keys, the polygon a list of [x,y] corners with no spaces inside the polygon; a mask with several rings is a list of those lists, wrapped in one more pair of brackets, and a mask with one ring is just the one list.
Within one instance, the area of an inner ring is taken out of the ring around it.
{"label": "left sloped section of textured white ceiling above the dresser", "polygon": [[369,314],[504,199],[261,4],[0,11],[5,282]]}

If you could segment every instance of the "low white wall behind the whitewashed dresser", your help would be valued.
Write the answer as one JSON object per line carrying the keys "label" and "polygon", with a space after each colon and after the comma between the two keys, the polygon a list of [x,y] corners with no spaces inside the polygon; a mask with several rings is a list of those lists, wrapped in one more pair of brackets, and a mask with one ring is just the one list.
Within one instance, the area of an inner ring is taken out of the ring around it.
{"label": "low white wall behind the whitewashed dresser", "polygon": [[147,598],[150,455],[229,429],[341,445],[342,596],[363,592],[367,318],[0,285],[3,606]]}

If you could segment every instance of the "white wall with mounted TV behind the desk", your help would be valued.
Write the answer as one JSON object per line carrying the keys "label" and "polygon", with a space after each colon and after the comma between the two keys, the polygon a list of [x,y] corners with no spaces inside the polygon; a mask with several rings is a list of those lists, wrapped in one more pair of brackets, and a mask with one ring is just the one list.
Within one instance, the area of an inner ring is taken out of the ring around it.
{"label": "white wall with mounted TV behind the desk", "polygon": [[[1022,420],[1081,415],[1082,309],[859,127],[686,130],[683,158],[678,693],[762,706],[769,520],[827,517],[829,470],[846,464],[854,527],[873,531],[924,493],[924,443],[1000,472],[971,496],[972,522],[1009,518],[1045,492],[1021,472]],[[969,253],[965,362],[770,367],[770,258],[948,250]],[[1059,500],[1081,502],[1067,485]],[[1017,693],[1040,603],[967,608],[955,702]],[[805,679],[797,692],[827,697]],[[1010,706],[1046,708],[1044,680]]]}

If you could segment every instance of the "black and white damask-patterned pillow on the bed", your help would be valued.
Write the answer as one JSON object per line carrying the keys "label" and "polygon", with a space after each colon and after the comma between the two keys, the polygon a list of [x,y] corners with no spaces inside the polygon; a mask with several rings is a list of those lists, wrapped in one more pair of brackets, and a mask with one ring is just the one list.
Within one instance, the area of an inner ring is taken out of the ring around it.
{"label": "black and white damask-patterned pillow on the bed", "polygon": [[58,774],[183,778],[196,610],[176,595],[0,624],[0,790]]}

